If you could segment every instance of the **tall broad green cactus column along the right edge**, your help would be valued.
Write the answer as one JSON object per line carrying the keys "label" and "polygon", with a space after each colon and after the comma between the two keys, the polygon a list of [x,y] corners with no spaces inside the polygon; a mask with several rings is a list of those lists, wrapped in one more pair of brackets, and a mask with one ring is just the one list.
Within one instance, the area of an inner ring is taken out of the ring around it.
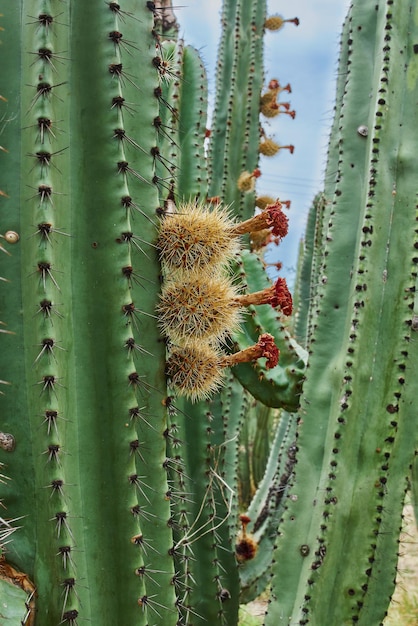
{"label": "tall broad green cactus column along the right edge", "polygon": [[353,2],[344,26],[267,626],[378,625],[394,588],[418,433],[417,10]]}

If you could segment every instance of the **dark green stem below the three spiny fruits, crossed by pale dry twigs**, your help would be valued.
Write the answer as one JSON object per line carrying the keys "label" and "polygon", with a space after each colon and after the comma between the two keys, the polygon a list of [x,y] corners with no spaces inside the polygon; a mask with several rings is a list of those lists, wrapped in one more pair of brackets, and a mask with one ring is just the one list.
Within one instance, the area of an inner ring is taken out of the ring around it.
{"label": "dark green stem below the three spiny fruits, crossed by pale dry twigs", "polygon": [[[234,432],[236,438],[236,422],[241,420],[242,397],[236,387],[231,375],[213,402],[175,403],[175,439],[193,442],[173,450],[177,455],[181,450],[184,494],[183,498],[174,495],[173,500],[175,520],[183,529],[176,546],[179,569],[185,572],[186,585],[188,577],[195,581],[185,594],[189,613],[184,608],[182,613],[196,624],[208,619],[214,624],[235,623],[238,617],[239,580],[230,549],[236,442],[225,432],[225,428],[228,434]],[[237,410],[232,414],[232,409]]]}

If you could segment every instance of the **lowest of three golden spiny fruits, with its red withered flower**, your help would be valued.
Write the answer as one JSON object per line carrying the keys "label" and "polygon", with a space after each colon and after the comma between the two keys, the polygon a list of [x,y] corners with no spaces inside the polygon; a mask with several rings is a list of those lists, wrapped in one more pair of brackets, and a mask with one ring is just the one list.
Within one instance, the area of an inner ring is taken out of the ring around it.
{"label": "lowest of three golden spiny fruits, with its red withered flower", "polygon": [[224,355],[209,343],[201,342],[199,345],[174,348],[166,364],[166,374],[179,395],[195,402],[209,398],[219,389],[225,367],[256,361],[261,357],[267,359],[267,369],[272,369],[279,361],[279,350],[268,333],[261,335],[255,345],[231,355]]}

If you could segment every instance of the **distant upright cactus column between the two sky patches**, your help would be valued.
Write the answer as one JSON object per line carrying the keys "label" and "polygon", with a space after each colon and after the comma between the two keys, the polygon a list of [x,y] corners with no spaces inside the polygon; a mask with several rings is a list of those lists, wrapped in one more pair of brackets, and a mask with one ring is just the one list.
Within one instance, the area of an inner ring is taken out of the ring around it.
{"label": "distant upright cactus column between the two sky patches", "polygon": [[255,196],[253,192],[242,194],[237,181],[243,171],[252,172],[257,167],[259,158],[259,127],[254,123],[254,111],[259,110],[264,78],[260,34],[264,32],[266,3],[236,0],[226,4],[209,145],[209,195],[222,197],[246,219],[253,214]]}

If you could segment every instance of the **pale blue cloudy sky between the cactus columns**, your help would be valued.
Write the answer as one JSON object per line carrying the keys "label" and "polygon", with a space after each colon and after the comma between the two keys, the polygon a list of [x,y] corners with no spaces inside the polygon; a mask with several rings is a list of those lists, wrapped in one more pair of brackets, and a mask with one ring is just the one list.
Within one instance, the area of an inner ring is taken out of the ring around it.
{"label": "pale blue cloudy sky between the cactus columns", "polygon": [[[266,254],[266,261],[283,263],[281,275],[289,283],[294,278],[309,206],[322,188],[339,38],[348,6],[349,0],[268,1],[269,15],[300,20],[298,27],[286,24],[278,32],[267,32],[265,37],[266,82],[277,78],[283,85],[291,84],[292,93],[282,94],[281,100],[290,101],[296,117],[292,120],[281,115],[264,126],[279,144],[291,143],[295,150],[293,154],[283,150],[272,158],[261,157],[262,175],[257,180],[257,193],[292,202],[289,234],[279,247],[273,246]],[[180,35],[200,50],[213,96],[221,0],[182,0],[181,7],[176,10]]]}

